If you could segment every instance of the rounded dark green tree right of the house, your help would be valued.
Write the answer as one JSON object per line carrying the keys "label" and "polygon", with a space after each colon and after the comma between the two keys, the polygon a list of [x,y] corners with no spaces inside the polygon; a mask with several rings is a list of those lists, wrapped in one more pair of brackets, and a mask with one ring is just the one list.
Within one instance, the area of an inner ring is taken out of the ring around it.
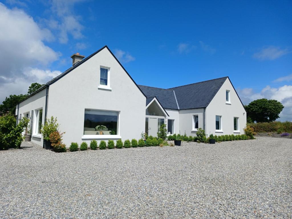
{"label": "rounded dark green tree right of the house", "polygon": [[246,106],[248,121],[272,122],[280,118],[284,106],[277,100],[258,99]]}

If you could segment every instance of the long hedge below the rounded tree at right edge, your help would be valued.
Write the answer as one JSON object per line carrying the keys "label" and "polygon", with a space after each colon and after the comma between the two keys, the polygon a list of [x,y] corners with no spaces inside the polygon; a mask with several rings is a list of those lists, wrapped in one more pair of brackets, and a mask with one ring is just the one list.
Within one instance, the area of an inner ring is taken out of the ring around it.
{"label": "long hedge below the rounded tree at right edge", "polygon": [[251,127],[255,132],[277,132],[278,129],[282,132],[292,133],[292,122],[258,122],[258,123],[248,123],[246,127]]}

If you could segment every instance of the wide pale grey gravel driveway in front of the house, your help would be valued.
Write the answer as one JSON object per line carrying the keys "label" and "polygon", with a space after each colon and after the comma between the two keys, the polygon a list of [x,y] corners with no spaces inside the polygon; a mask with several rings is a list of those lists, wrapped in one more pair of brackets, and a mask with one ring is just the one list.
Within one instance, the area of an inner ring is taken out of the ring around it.
{"label": "wide pale grey gravel driveway in front of the house", "polygon": [[291,218],[292,140],[0,151],[0,218]]}

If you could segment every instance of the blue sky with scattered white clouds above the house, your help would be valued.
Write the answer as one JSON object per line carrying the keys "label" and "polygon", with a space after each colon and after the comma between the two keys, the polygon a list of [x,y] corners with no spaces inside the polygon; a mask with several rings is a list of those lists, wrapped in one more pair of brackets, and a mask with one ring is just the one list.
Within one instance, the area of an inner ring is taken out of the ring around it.
{"label": "blue sky with scattered white clouds above the house", "polygon": [[245,104],[277,99],[281,120],[292,120],[291,9],[292,1],[2,1],[0,58],[9,63],[0,64],[0,99],[60,74],[73,53],[107,45],[137,84],[229,76]]}

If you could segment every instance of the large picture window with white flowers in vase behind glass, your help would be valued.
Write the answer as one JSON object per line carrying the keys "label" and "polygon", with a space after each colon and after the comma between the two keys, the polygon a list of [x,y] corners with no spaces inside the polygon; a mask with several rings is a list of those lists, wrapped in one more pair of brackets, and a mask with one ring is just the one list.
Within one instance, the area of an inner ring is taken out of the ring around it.
{"label": "large picture window with white flowers in vase behind glass", "polygon": [[84,135],[118,135],[119,112],[85,109]]}

